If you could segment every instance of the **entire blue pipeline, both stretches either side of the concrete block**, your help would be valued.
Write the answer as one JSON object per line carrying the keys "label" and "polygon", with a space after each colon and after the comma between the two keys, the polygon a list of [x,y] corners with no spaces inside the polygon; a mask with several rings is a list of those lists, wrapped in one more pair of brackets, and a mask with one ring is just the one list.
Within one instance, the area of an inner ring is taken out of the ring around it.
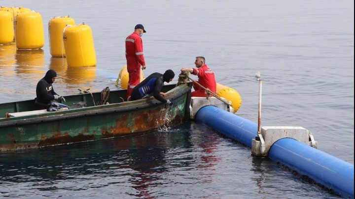
{"label": "entire blue pipeline, both stretches either side of the concrete block", "polygon": [[[257,124],[214,106],[201,108],[195,120],[249,147],[257,136]],[[338,195],[354,199],[354,165],[350,163],[290,138],[275,142],[269,158],[307,175]]]}

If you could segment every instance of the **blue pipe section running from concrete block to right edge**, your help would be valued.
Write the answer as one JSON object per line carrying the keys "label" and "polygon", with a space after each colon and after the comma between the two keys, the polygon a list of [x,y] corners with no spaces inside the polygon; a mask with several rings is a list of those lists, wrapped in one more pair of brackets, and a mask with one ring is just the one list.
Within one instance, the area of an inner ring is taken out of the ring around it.
{"label": "blue pipe section running from concrete block to right edge", "polygon": [[280,139],[269,150],[281,162],[345,198],[354,198],[354,165],[291,138]]}

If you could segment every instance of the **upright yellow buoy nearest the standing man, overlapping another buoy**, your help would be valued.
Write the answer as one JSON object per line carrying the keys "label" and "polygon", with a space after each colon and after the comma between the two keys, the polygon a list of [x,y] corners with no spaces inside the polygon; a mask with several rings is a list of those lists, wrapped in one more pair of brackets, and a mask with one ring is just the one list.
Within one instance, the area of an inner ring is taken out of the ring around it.
{"label": "upright yellow buoy nearest the standing man, overlapping another buoy", "polygon": [[96,66],[94,40],[88,25],[67,26],[63,42],[68,67]]}

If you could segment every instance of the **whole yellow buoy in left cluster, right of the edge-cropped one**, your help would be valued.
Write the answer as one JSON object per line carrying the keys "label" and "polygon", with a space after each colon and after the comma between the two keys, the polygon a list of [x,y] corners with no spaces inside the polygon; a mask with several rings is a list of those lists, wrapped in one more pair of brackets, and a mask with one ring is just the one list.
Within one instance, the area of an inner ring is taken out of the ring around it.
{"label": "whole yellow buoy in left cluster, right of the edge-cropped one", "polygon": [[22,12],[17,15],[15,41],[17,49],[40,49],[44,46],[43,21],[38,12]]}

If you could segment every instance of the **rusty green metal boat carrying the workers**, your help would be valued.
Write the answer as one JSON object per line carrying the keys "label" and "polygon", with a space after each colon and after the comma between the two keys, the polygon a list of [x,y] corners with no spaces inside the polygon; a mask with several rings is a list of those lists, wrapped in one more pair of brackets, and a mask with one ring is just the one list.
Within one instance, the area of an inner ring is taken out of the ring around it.
{"label": "rusty green metal boat carrying the workers", "polygon": [[83,108],[35,111],[34,100],[0,104],[0,152],[93,141],[173,127],[190,119],[191,83],[164,85],[172,104],[149,97],[126,101],[126,90],[109,92],[106,105],[95,105],[101,92],[65,96],[66,105]]}

